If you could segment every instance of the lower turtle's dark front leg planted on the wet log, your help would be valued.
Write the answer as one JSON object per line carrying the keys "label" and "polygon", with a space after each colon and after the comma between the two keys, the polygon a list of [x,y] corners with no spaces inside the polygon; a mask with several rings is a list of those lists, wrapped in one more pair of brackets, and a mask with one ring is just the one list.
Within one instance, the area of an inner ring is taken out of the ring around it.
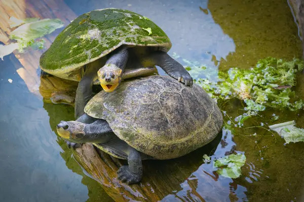
{"label": "lower turtle's dark front leg planted on the wet log", "polygon": [[142,164],[140,153],[129,145],[129,166],[122,166],[117,171],[118,179],[127,184],[139,183],[142,178]]}

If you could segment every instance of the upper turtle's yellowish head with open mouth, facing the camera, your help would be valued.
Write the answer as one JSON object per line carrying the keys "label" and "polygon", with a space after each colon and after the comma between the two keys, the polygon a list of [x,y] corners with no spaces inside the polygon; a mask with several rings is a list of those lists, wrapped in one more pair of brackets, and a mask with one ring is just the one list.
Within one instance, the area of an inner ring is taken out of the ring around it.
{"label": "upper turtle's yellowish head with open mouth, facing the camera", "polygon": [[112,92],[122,80],[122,69],[114,64],[106,64],[98,70],[100,85],[106,92]]}

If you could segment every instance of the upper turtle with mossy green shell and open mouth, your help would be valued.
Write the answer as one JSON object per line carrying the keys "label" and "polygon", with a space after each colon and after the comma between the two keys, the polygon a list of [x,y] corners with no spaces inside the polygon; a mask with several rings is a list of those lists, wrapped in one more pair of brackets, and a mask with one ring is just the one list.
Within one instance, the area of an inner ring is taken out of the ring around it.
{"label": "upper turtle with mossy green shell and open mouth", "polygon": [[[172,43],[153,21],[137,13],[107,8],[74,19],[55,38],[40,58],[43,74],[79,81],[75,118],[84,114],[92,97],[92,85],[112,92],[121,83],[128,61],[138,68],[161,67],[169,76],[192,86],[193,78],[167,52]],[[97,62],[96,62],[97,61]]]}

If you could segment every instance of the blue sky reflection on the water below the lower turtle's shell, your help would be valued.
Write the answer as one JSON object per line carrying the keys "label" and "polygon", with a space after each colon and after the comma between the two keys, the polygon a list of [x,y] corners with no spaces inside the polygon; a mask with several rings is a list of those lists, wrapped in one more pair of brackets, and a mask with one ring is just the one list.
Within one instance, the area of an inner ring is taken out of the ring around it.
{"label": "blue sky reflection on the water below the lower turtle's shell", "polygon": [[[232,134],[229,130],[223,130],[223,135],[219,139],[226,144],[217,144],[213,148],[209,156],[223,157],[227,153],[235,151],[235,143],[232,139]],[[214,153],[214,154],[213,154]],[[201,158],[203,154],[201,153]],[[197,157],[198,158],[198,157]],[[242,199],[247,200],[245,192],[247,189],[244,186],[238,185],[234,179],[219,176],[212,163],[202,164],[194,171],[183,183],[180,184],[180,191],[167,195],[162,201],[236,201]]]}

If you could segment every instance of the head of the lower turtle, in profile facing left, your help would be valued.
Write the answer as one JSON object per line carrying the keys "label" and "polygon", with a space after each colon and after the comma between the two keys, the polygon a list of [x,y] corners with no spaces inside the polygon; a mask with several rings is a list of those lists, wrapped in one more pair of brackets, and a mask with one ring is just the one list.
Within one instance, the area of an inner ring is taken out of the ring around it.
{"label": "head of the lower turtle, in profile facing left", "polygon": [[57,125],[57,133],[64,139],[71,142],[83,143],[85,142],[85,124],[76,121],[61,121]]}

